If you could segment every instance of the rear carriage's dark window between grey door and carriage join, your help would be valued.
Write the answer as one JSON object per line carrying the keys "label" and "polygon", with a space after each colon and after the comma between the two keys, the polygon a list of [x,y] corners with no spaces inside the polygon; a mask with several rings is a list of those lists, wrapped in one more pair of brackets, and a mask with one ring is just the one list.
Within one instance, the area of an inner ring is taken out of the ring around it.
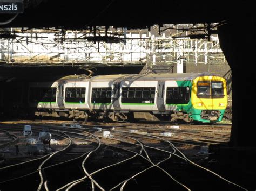
{"label": "rear carriage's dark window between grey door and carriage join", "polygon": [[66,88],[65,102],[84,103],[85,88]]}

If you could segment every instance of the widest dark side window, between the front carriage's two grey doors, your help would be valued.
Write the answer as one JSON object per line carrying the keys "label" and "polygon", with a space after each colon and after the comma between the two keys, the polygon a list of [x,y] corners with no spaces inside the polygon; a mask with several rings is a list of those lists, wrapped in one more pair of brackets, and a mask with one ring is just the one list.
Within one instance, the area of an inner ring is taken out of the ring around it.
{"label": "widest dark side window, between the front carriage's two grey doors", "polygon": [[122,88],[122,103],[154,103],[155,87]]}

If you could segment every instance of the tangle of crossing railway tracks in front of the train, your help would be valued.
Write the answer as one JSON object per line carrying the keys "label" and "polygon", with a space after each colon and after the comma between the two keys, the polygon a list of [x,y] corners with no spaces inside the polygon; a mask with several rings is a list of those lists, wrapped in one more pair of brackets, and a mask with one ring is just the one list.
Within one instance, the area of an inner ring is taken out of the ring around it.
{"label": "tangle of crossing railway tracks in front of the train", "polygon": [[[24,123],[1,124],[0,130],[22,130]],[[200,148],[227,142],[227,126],[175,129],[159,124],[80,123],[81,128],[71,128],[63,123],[72,122],[29,122],[35,131],[49,126],[53,135],[62,135],[69,144],[37,162],[26,161],[25,166],[33,168],[23,168],[23,174],[16,173],[22,163],[0,168],[1,174],[9,173],[0,181],[1,190],[16,183],[27,190],[246,190],[189,159]],[[165,136],[168,133],[173,134]],[[35,183],[27,187],[28,180]]]}

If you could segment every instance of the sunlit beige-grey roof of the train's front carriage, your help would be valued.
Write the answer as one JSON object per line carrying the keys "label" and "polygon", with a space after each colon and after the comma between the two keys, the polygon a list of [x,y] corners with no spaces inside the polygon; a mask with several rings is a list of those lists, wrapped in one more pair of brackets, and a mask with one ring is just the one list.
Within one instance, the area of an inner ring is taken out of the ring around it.
{"label": "sunlit beige-grey roof of the train's front carriage", "polygon": [[182,74],[172,74],[172,73],[165,73],[165,74],[114,74],[114,75],[100,75],[94,76],[91,78],[91,81],[105,81],[105,80],[127,80],[127,81],[134,81],[134,80],[193,80],[199,76],[216,76],[214,74],[208,73],[182,73]]}

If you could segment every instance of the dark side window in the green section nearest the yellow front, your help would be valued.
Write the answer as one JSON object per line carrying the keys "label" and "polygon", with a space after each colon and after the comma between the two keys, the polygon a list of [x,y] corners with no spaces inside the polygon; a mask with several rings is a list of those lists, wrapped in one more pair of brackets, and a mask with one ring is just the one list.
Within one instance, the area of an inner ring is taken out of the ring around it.
{"label": "dark side window in the green section nearest the yellow front", "polygon": [[187,104],[190,101],[190,87],[167,87],[167,104]]}

